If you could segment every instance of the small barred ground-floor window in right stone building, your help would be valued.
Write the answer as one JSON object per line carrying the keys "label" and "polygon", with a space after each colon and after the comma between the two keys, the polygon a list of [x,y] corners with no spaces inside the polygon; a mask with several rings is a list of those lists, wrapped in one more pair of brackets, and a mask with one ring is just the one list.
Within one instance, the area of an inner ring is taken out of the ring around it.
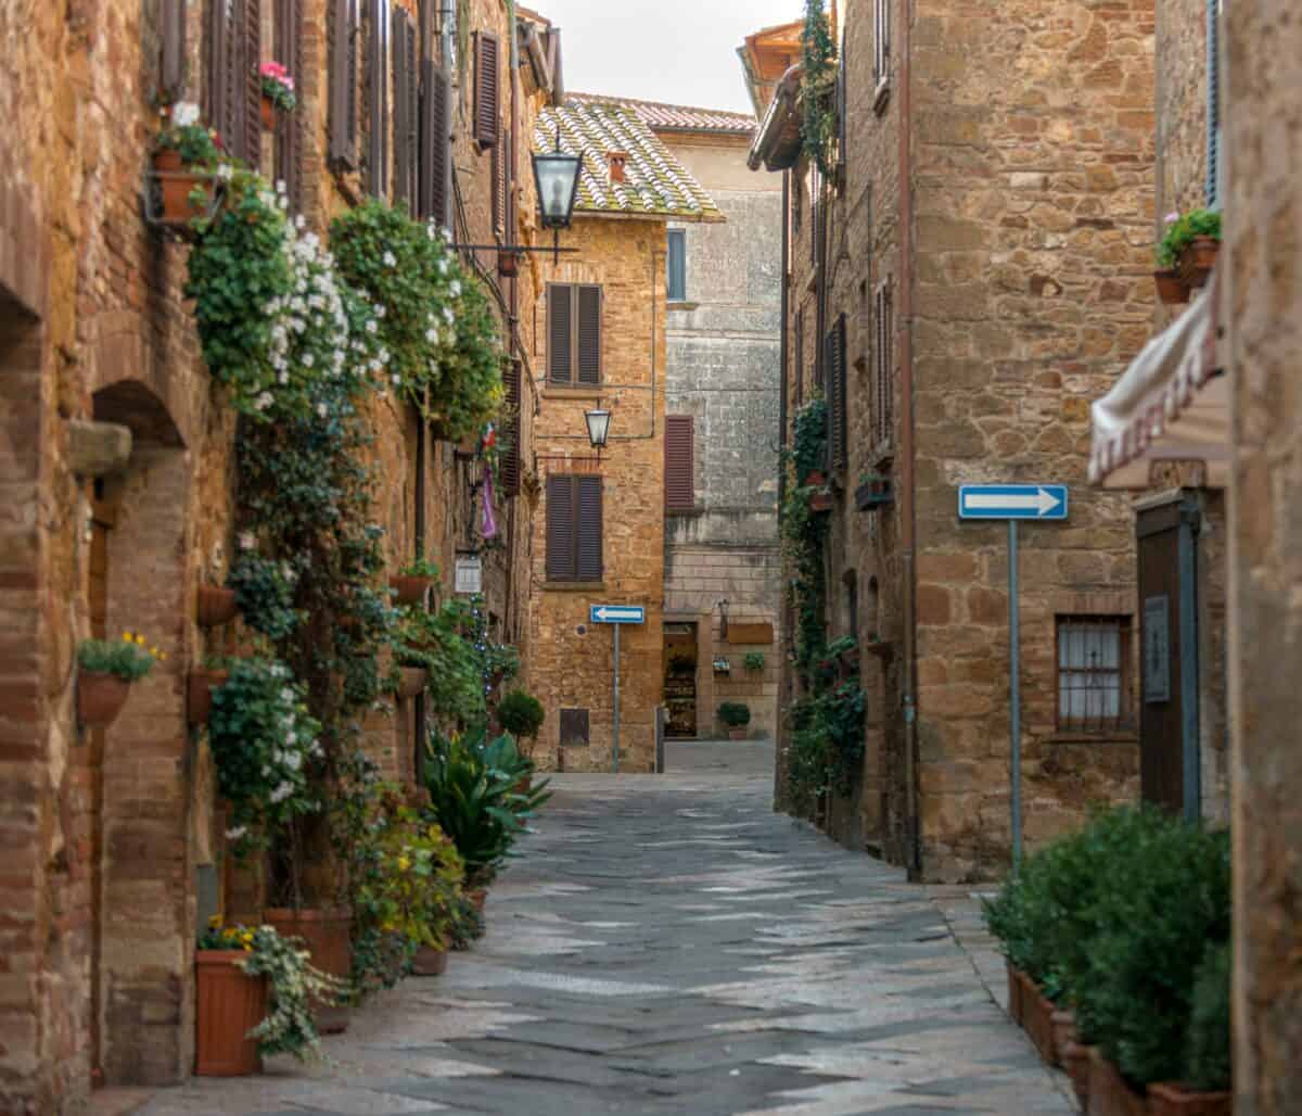
{"label": "small barred ground-floor window in right stone building", "polygon": [[1057,727],[1105,733],[1130,728],[1130,617],[1057,619]]}

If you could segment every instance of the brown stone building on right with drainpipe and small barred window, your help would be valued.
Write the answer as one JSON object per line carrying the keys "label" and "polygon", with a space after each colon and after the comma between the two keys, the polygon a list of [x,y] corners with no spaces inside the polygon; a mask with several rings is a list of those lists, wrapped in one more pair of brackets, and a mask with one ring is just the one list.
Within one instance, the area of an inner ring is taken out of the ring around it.
{"label": "brown stone building on right with drainpipe and small barred window", "polygon": [[[1066,523],[1021,531],[1027,843],[1138,793],[1131,513],[1085,481],[1090,400],[1152,316],[1154,5],[911,13],[841,13],[835,174],[801,151],[798,68],[751,165],[790,195],[786,436],[819,389],[844,425],[827,635],[859,642],[867,728],[827,824],[966,880],[1009,858],[1010,660],[1005,529],[960,522],[961,484],[1070,486]],[[1090,718],[1077,645],[1107,668]]]}

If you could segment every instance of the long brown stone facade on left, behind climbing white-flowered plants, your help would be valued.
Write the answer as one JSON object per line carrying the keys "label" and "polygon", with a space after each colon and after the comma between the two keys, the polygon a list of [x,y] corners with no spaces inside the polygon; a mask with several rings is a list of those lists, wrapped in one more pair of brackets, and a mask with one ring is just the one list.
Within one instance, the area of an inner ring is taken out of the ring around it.
{"label": "long brown stone facade on left, behind climbing white-flowered plants", "polygon": [[[292,124],[263,134],[253,160],[272,178],[293,178],[294,204],[316,230],[366,193],[388,195],[392,182],[374,159],[357,169],[328,163],[332,7],[103,0],[0,10],[8,59],[0,105],[23,121],[0,141],[4,1112],[79,1112],[92,1082],[184,1078],[197,928],[224,901],[232,915],[256,915],[223,891],[225,827],[212,762],[185,706],[186,672],[227,650],[224,637],[198,626],[195,595],[199,585],[221,583],[234,550],[236,418],[199,358],[182,297],[187,249],[142,216],[142,168],[158,128],[155,98],[168,81],[169,95],[210,111],[214,20],[238,12],[249,76],[279,56],[298,81]],[[462,39],[491,31],[506,47],[517,34],[497,0],[458,7]],[[398,8],[418,29],[421,55],[445,60],[434,5],[368,10],[388,17]],[[172,17],[185,30],[180,39],[164,31]],[[547,34],[540,21],[518,30],[527,40],[538,29]],[[359,61],[357,128],[361,148],[379,150],[389,168],[395,148],[370,146],[371,121],[385,133],[392,126],[368,100],[389,81],[379,59],[383,69]],[[491,152],[466,132],[467,61],[462,51],[462,69],[450,76],[460,95],[447,161],[464,202],[450,224],[458,241],[484,244],[493,237],[495,178]],[[501,74],[500,126],[527,135],[546,81],[505,63]],[[513,150],[512,216],[529,237],[527,143]],[[482,263],[496,268],[491,255]],[[531,266],[516,281],[487,279],[509,336],[512,316],[533,316]],[[527,402],[521,410],[527,440]],[[393,400],[368,419],[375,517],[391,569],[423,551],[450,574],[474,522],[479,464],[437,443]],[[506,501],[500,514],[508,543],[488,563],[488,608],[501,637],[523,641],[529,503]],[[87,732],[76,718],[77,645],[124,628],[147,633],[168,658],[137,684],[111,728]],[[391,775],[411,771],[410,704],[368,725],[368,747]]]}

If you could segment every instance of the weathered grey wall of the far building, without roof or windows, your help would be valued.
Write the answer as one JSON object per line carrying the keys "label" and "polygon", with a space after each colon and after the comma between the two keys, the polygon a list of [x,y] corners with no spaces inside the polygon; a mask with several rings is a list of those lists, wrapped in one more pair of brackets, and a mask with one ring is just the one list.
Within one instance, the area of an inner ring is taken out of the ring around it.
{"label": "weathered grey wall of the far building, without roof or windows", "polygon": [[[715,199],[723,224],[677,225],[686,237],[686,302],[671,303],[665,408],[693,417],[695,508],[671,513],[665,608],[712,633],[697,668],[697,734],[720,733],[721,701],[751,707],[750,734],[777,724],[781,565],[777,547],[777,392],[781,378],[781,181],[746,171],[749,135],[661,138]],[[717,638],[717,602],[732,621],[768,624],[773,643]],[[763,671],[745,671],[747,651]],[[732,662],[715,675],[715,658]]]}

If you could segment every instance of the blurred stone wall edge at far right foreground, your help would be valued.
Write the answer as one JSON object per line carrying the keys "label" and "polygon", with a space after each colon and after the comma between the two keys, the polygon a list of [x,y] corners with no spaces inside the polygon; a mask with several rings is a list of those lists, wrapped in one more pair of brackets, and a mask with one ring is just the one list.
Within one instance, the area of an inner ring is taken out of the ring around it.
{"label": "blurred stone wall edge at far right foreground", "polygon": [[1226,4],[1229,189],[1221,271],[1234,393],[1230,701],[1234,1111],[1302,1111],[1302,23],[1292,0]]}

